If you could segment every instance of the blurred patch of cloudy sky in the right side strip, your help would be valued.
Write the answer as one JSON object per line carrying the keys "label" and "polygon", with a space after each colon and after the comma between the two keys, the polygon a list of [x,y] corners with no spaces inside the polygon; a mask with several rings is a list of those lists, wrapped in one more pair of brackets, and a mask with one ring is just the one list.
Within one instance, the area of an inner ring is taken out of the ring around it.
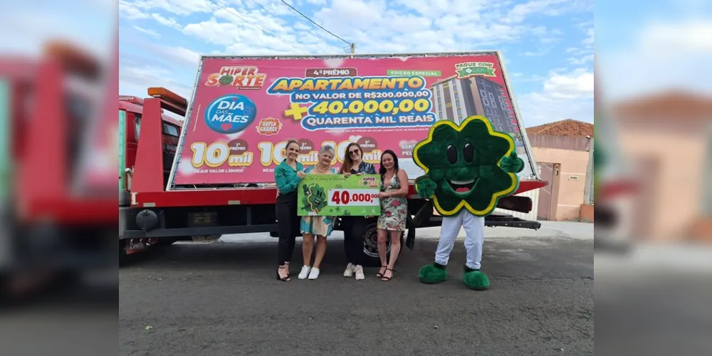
{"label": "blurred patch of cloudy sky in the right side strip", "polygon": [[712,1],[596,2],[597,90],[609,101],[712,95]]}

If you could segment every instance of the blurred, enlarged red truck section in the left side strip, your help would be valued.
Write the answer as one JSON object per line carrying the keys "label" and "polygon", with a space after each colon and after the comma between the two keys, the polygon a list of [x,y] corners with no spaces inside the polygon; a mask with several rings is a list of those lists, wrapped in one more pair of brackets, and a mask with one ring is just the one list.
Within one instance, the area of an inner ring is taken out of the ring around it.
{"label": "blurred, enlarged red truck section in the left side strip", "polygon": [[0,58],[0,299],[116,261],[118,63],[43,47]]}

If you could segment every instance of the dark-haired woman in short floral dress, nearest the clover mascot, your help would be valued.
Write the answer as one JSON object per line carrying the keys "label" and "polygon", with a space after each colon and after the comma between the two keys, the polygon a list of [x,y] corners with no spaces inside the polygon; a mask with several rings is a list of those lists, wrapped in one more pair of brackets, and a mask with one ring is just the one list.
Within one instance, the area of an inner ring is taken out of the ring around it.
{"label": "dark-haired woman in short floral dress, nearest the clover mascot", "polygon": [[[398,157],[392,150],[386,150],[381,155],[381,215],[378,216],[378,256],[381,268],[377,277],[381,281],[393,278],[393,266],[400,253],[400,236],[405,231],[408,219],[408,175],[398,167]],[[386,264],[386,249],[388,235],[391,238],[391,256]]]}

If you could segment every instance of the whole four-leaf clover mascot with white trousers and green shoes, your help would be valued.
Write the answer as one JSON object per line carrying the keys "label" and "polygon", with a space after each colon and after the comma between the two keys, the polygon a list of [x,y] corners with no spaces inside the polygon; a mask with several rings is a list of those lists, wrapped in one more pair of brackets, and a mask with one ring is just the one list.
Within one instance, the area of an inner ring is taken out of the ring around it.
{"label": "whole four-leaf clover mascot with white trousers and green shoes", "polygon": [[435,263],[419,271],[423,283],[446,280],[446,267],[461,227],[465,230],[466,263],[462,281],[471,289],[489,287],[480,271],[485,216],[501,197],[519,186],[516,173],[524,167],[510,135],[492,130],[486,117],[471,116],[461,125],[436,122],[428,138],[414,148],[413,157],[425,175],[415,181],[418,195],[430,199],[443,217]]}

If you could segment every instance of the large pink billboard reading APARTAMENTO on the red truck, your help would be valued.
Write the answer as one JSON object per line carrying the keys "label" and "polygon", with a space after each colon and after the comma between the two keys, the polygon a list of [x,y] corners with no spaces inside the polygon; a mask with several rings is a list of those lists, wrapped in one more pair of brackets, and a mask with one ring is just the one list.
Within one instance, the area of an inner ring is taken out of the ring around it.
{"label": "large pink billboard reading APARTAMENTO on the red truck", "polygon": [[[316,164],[323,145],[335,167],[350,142],[379,164],[385,150],[410,179],[414,145],[436,120],[488,117],[525,152],[522,129],[497,53],[355,58],[202,58],[184,122],[175,186],[273,182],[287,140]],[[525,159],[530,174],[530,162]],[[170,189],[170,188],[169,188]]]}

